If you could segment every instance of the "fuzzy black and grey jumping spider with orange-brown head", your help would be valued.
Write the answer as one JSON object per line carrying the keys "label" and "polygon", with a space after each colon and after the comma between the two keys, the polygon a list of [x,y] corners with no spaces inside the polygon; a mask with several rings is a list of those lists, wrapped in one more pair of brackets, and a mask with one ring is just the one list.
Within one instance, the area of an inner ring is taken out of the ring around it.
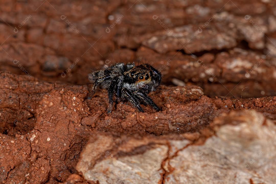
{"label": "fuzzy black and grey jumping spider with orange-brown head", "polygon": [[140,104],[150,105],[156,111],[161,110],[147,95],[160,84],[161,73],[148,64],[135,66],[134,63],[116,63],[90,73],[88,79],[94,83],[89,97],[93,97],[98,86],[107,89],[107,113],[112,111],[113,95],[118,102],[128,100],[140,112],[144,112]]}

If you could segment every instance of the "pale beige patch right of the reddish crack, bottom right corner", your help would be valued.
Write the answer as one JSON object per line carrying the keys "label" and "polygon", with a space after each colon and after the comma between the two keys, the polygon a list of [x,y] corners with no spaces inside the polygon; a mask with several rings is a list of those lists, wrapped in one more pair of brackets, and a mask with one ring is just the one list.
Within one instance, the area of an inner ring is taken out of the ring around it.
{"label": "pale beige patch right of the reddish crack, bottom right corner", "polygon": [[256,111],[232,111],[214,124],[226,119],[235,125],[218,128],[204,145],[190,145],[168,159],[165,183],[274,183],[274,122]]}

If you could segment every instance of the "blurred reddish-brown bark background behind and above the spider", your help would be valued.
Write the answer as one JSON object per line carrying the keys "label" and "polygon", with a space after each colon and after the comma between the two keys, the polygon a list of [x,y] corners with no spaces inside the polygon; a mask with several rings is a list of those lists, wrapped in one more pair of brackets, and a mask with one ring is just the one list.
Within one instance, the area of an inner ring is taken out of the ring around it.
{"label": "blurred reddish-brown bark background behind and above the spider", "polygon": [[140,60],[209,97],[276,95],[272,0],[4,0],[0,33],[0,70],[47,82]]}

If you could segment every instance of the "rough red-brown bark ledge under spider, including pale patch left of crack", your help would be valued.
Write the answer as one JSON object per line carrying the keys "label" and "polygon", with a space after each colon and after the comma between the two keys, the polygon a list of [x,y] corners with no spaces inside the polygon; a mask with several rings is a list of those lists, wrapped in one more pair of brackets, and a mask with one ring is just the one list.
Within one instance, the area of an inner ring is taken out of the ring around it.
{"label": "rough red-brown bark ledge under spider, including pale patch left of crack", "polygon": [[[276,97],[209,98],[198,86],[160,86],[150,96],[163,107],[161,112],[145,107],[147,112],[139,113],[121,102],[106,114],[105,90],[85,100],[87,86],[50,84],[7,72],[0,76],[4,183],[56,183],[77,173],[90,182],[127,182],[131,175],[132,182],[174,183],[165,179],[172,172],[167,162],[179,159],[189,144],[203,144],[217,135],[216,126],[243,121],[267,126],[275,119]],[[262,118],[248,109],[261,111]],[[124,172],[106,178],[118,168]],[[79,180],[78,175],[70,178]]]}

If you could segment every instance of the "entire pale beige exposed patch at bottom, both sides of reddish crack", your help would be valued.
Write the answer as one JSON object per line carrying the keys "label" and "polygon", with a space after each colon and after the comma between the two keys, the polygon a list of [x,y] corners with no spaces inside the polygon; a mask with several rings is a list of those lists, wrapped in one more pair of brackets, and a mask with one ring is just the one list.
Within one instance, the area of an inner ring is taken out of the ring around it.
{"label": "entire pale beige exposed patch at bottom, both sides of reddish crack", "polygon": [[[219,127],[226,119],[235,124]],[[204,143],[100,133],[76,168],[99,183],[274,183],[275,121],[253,110],[231,111],[211,127],[216,136]]]}

